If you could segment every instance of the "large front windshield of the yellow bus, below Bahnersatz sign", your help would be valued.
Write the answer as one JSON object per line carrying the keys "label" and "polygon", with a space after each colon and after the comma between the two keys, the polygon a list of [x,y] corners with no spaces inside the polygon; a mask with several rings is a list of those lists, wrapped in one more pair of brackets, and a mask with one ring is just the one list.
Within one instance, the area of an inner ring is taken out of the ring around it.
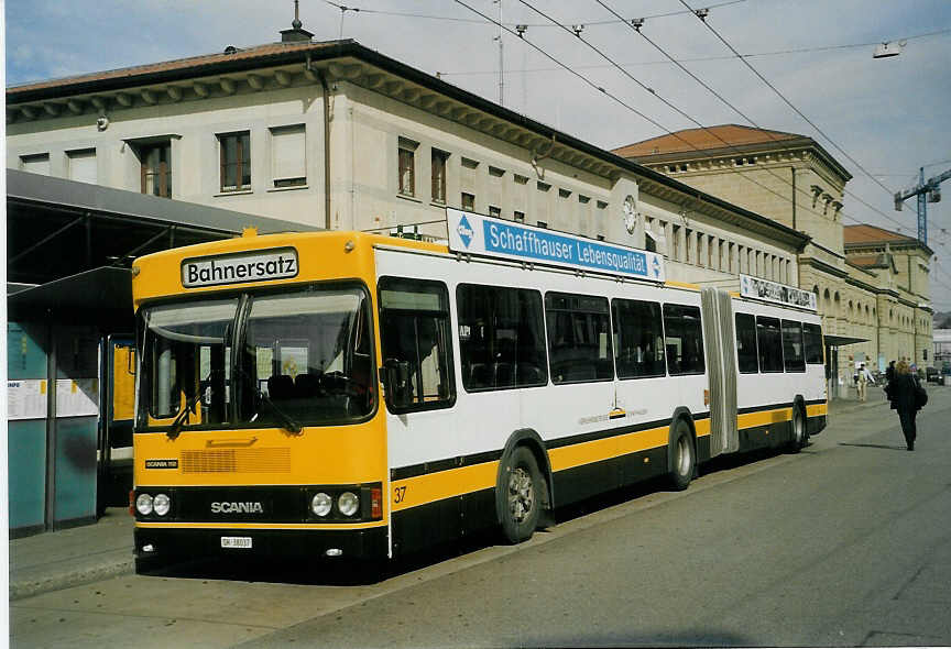
{"label": "large front windshield of the yellow bus, below Bahnersatz sign", "polygon": [[[373,410],[358,287],[143,308],[139,430],[345,424]],[[240,350],[233,354],[232,350]]]}

